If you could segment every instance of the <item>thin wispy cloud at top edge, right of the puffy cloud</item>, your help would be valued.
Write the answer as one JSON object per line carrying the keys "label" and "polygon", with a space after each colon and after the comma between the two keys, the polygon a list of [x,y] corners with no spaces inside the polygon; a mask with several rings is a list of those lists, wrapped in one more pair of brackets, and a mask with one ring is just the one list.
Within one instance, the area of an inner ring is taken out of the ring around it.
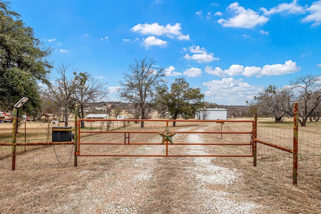
{"label": "thin wispy cloud at top edge, right of the puffy cloud", "polygon": [[287,3],[279,4],[276,7],[270,9],[269,11],[266,10],[265,8],[261,8],[260,10],[266,16],[269,16],[271,14],[278,14],[278,13],[286,13],[286,14],[304,14],[305,13],[305,8],[303,8],[299,4],[296,4],[296,0],[294,0],[289,4]]}

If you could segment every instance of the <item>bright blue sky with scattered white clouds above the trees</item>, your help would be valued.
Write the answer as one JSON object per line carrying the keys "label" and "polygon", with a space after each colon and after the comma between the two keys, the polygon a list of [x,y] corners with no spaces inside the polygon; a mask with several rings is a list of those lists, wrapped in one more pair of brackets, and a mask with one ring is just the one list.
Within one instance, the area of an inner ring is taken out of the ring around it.
{"label": "bright blue sky with scattered white clouds above the trees", "polygon": [[107,82],[109,101],[144,57],[165,68],[169,86],[184,77],[220,105],[321,72],[321,1],[10,2],[54,49],[54,66]]}

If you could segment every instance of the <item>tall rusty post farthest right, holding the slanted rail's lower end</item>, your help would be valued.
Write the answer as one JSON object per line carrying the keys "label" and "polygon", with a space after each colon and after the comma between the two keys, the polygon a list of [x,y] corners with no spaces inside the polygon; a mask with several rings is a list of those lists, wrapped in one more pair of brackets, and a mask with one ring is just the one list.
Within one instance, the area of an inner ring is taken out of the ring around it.
{"label": "tall rusty post farthest right, holding the slanted rail's lower end", "polygon": [[293,110],[293,176],[292,183],[297,185],[297,138],[298,138],[298,103],[294,103]]}

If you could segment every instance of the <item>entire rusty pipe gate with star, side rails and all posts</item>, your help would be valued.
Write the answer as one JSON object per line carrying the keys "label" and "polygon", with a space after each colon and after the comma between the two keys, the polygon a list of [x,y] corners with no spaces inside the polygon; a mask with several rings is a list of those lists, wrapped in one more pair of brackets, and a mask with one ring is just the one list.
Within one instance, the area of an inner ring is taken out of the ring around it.
{"label": "entire rusty pipe gate with star, side rails and all posts", "polygon": [[[294,103],[293,110],[293,149],[288,149],[279,145],[275,145],[269,142],[265,142],[257,139],[257,114],[254,115],[254,120],[137,120],[137,119],[126,119],[126,120],[116,120],[116,119],[97,119],[95,121],[132,121],[132,122],[165,122],[166,130],[159,131],[130,131],[130,130],[113,130],[113,131],[92,131],[92,130],[81,130],[81,121],[92,121],[89,119],[78,119],[78,109],[75,109],[75,129],[74,131],[74,142],[35,142],[35,143],[17,143],[16,142],[16,123],[17,123],[17,109],[14,109],[13,118],[13,140],[12,143],[1,143],[0,146],[12,146],[12,170],[16,168],[16,146],[26,146],[26,145],[59,145],[59,144],[74,144],[74,166],[78,164],[78,156],[148,156],[148,157],[253,157],[253,166],[256,166],[256,155],[257,155],[257,143],[261,143],[267,146],[274,147],[276,149],[283,150],[293,154],[293,173],[292,173],[292,183],[297,185],[297,154],[298,154],[298,103]],[[213,122],[221,124],[221,131],[169,131],[169,122],[189,122],[189,123],[202,123],[202,122]],[[236,123],[252,123],[252,130],[247,132],[223,132],[222,125],[224,123],[236,122]],[[70,129],[69,129],[70,130]],[[121,142],[81,142],[81,134],[83,133],[119,133],[124,135],[124,141]],[[171,133],[173,135],[171,135]],[[146,143],[146,142],[130,142],[130,134],[159,134],[163,136],[162,143]],[[174,134],[251,134],[250,143],[182,143],[182,142],[172,142],[172,136]],[[169,143],[170,142],[170,143]],[[165,145],[165,154],[84,154],[81,152],[81,145]],[[233,146],[251,146],[251,154],[169,154],[170,145],[233,145]]]}

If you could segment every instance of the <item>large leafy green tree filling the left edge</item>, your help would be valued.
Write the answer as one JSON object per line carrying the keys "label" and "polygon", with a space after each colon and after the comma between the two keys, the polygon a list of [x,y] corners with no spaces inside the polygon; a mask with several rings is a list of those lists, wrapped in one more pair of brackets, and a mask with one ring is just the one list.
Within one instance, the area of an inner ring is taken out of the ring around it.
{"label": "large leafy green tree filling the left edge", "polygon": [[51,53],[10,3],[0,1],[0,108],[11,110],[25,96],[29,101],[21,109],[32,116],[40,112],[38,83],[50,84]]}

